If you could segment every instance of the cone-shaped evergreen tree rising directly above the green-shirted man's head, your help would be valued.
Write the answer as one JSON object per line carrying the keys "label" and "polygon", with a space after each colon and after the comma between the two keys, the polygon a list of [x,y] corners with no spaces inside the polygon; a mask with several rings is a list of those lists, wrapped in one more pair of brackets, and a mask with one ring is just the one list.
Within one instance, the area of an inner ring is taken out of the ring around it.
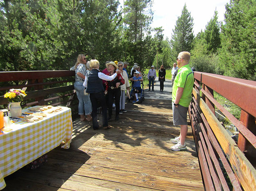
{"label": "cone-shaped evergreen tree rising directly above the green-shirted man's head", "polygon": [[175,29],[172,30],[172,49],[174,54],[181,51],[190,51],[192,49],[193,35],[193,18],[188,12],[186,4],[183,7],[181,16],[178,17]]}

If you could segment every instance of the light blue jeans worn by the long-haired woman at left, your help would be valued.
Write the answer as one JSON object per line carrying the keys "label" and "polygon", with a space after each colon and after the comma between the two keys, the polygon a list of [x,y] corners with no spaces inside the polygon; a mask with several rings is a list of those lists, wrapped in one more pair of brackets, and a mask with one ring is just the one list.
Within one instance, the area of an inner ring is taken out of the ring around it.
{"label": "light blue jeans worn by the long-haired woman at left", "polygon": [[77,92],[77,98],[79,100],[78,104],[78,114],[79,115],[89,115],[92,112],[92,104],[89,95],[84,95],[84,86],[82,82],[75,81],[74,84],[75,91]]}

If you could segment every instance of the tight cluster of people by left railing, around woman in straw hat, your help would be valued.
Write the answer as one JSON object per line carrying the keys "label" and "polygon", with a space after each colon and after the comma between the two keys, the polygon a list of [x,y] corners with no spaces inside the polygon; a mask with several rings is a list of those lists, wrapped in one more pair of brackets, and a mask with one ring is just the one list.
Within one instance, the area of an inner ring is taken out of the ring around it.
{"label": "tight cluster of people by left railing, around woman in straw hat", "polygon": [[[140,91],[140,82],[143,81],[137,63],[134,63],[130,76],[127,72],[128,62],[106,61],[105,65],[106,68],[100,71],[100,63],[97,60],[87,62],[86,55],[79,54],[75,66],[70,68],[75,71],[74,87],[79,100],[80,120],[92,121],[94,130],[99,129],[97,108],[101,107],[103,129],[109,129],[108,122],[112,121],[113,105],[115,106],[116,121],[119,120],[120,113],[127,112],[125,110],[125,92],[127,91],[129,94],[129,80],[132,81],[133,87],[136,87],[138,92]],[[138,101],[138,92],[135,92],[137,99],[134,100],[134,103]]]}

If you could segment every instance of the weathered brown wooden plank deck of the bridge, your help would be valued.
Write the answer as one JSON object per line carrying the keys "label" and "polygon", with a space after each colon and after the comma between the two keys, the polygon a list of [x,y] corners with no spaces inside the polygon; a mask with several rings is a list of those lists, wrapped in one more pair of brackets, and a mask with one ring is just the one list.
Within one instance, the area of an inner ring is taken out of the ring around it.
{"label": "weathered brown wooden plank deck of the bridge", "polygon": [[127,103],[126,109],[118,122],[109,122],[109,130],[73,122],[70,149],[57,147],[38,169],[9,175],[3,191],[204,190],[190,127],[188,150],[170,150],[170,138],[179,135],[179,127],[168,120],[170,101]]}

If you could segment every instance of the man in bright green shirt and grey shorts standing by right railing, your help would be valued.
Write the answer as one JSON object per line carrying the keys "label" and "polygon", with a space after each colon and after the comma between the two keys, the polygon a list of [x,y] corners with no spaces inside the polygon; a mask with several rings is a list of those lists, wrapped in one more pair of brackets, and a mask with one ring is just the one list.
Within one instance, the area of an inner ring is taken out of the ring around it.
{"label": "man in bright green shirt and grey shorts standing by right railing", "polygon": [[181,131],[179,137],[171,139],[171,142],[176,143],[171,147],[173,151],[184,151],[187,149],[185,144],[188,132],[187,113],[194,84],[194,75],[192,69],[189,67],[189,60],[189,52],[184,51],[179,53],[177,58],[179,70],[172,87],[172,112],[173,124],[180,125]]}

